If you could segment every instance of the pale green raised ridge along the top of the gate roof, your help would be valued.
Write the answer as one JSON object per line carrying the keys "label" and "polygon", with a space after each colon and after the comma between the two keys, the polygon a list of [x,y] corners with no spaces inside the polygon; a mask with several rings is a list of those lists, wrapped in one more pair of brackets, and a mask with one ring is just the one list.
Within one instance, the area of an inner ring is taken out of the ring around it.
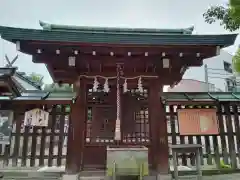
{"label": "pale green raised ridge along the top of the gate roof", "polygon": [[76,32],[95,32],[95,33],[122,33],[122,34],[192,34],[194,26],[185,29],[143,29],[143,28],[104,28],[89,26],[68,26],[48,24],[43,21],[39,22],[43,30],[48,31],[76,31]]}

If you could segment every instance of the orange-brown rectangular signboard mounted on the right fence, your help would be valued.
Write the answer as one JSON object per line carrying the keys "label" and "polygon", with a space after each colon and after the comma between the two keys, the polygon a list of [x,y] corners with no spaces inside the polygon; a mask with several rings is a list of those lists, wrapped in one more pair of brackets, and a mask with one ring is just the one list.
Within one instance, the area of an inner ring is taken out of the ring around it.
{"label": "orange-brown rectangular signboard mounted on the right fence", "polygon": [[216,109],[178,110],[180,135],[219,134]]}

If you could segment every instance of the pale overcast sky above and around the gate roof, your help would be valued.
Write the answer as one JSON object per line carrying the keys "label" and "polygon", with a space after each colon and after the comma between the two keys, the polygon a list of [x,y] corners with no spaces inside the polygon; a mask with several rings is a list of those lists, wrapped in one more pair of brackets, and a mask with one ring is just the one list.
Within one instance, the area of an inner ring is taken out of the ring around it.
{"label": "pale overcast sky above and around the gate roof", "polygon": [[[225,3],[226,0],[1,0],[0,25],[39,29],[39,20],[53,24],[128,28],[194,25],[195,34],[224,34],[229,32],[218,23],[205,23],[202,14],[211,5]],[[237,38],[235,45],[226,50],[234,53],[239,43],[240,38]],[[19,55],[14,65],[20,71],[42,74],[45,83],[52,82],[43,64],[32,63],[31,56],[17,52],[15,45],[0,40],[0,66],[6,64],[5,54],[10,59]]]}

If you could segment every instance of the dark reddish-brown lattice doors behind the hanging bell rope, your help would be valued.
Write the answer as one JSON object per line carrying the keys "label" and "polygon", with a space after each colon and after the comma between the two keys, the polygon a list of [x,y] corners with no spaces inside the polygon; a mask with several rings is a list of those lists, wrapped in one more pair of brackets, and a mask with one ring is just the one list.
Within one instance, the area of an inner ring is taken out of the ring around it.
{"label": "dark reddish-brown lattice doors behind the hanging bell rope", "polygon": [[[86,122],[84,165],[105,168],[106,147],[114,141],[116,125],[116,91],[109,93],[88,90],[88,118]],[[148,145],[149,122],[147,90],[121,93],[121,141],[119,145]]]}

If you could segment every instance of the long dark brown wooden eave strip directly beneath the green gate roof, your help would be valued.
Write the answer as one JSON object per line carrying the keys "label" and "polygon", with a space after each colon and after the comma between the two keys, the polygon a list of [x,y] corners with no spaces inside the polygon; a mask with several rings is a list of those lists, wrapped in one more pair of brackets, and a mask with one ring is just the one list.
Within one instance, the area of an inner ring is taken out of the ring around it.
{"label": "long dark brown wooden eave strip directly beneath the green gate roof", "polygon": [[[22,49],[23,47],[21,47]],[[92,52],[96,52],[96,54],[105,54],[108,56],[151,56],[151,55],[160,55],[162,52],[167,54],[177,54],[182,53],[182,55],[186,55],[188,53],[203,53],[209,52],[214,49],[216,53],[215,46],[147,46],[147,45],[115,45],[115,44],[80,44],[80,43],[64,43],[64,42],[28,42],[26,44],[25,49],[31,51],[31,53],[35,53],[36,49],[42,49],[43,53],[51,53],[56,52],[59,49],[62,53],[71,53],[78,54],[92,54]],[[111,53],[112,52],[112,53]],[[112,54],[112,55],[111,55]]]}

